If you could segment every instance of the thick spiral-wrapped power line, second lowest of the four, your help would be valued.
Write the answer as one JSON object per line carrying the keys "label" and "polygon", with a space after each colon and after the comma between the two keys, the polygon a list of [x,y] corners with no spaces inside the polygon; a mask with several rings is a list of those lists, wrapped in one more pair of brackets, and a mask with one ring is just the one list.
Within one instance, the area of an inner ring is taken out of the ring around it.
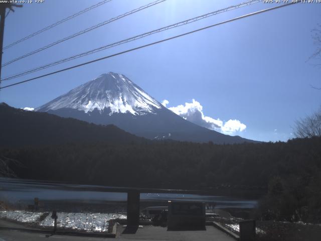
{"label": "thick spiral-wrapped power line, second lowest of the four", "polygon": [[5,77],[3,80],[11,80],[11,79],[14,79],[14,78],[18,78],[18,77],[21,77],[23,75],[30,74],[30,73],[33,73],[33,72],[36,72],[36,71],[40,71],[40,70],[43,70],[43,69],[46,69],[46,68],[49,68],[49,67],[52,67],[52,66],[67,62],[67,61],[71,61],[71,60],[76,59],[76,58],[80,58],[80,57],[83,57],[83,56],[86,56],[86,55],[89,55],[89,54],[93,54],[93,53],[96,53],[96,52],[99,52],[99,51],[102,51],[102,50],[105,50],[105,49],[109,49],[109,48],[112,48],[112,47],[115,47],[115,46],[118,46],[118,45],[121,45],[121,44],[125,44],[125,43],[128,43],[128,42],[131,42],[131,41],[135,41],[137,39],[141,39],[141,38],[147,37],[147,36],[152,35],[152,34],[156,34],[156,33],[163,32],[163,31],[166,31],[166,30],[169,30],[169,29],[177,28],[177,27],[180,27],[180,26],[183,26],[183,25],[186,25],[186,24],[190,24],[190,23],[199,21],[201,19],[205,19],[205,18],[211,17],[213,15],[217,15],[217,14],[224,13],[224,12],[227,12],[227,11],[230,11],[230,10],[234,10],[234,9],[237,9],[237,8],[245,7],[245,6],[248,6],[248,5],[251,5],[251,4],[259,3],[259,2],[262,2],[262,1],[263,0],[252,0],[252,1],[248,1],[248,2],[245,2],[245,3],[238,4],[238,5],[233,5],[233,6],[230,6],[228,8],[225,8],[225,9],[217,10],[217,11],[214,11],[214,12],[211,12],[211,13],[208,13],[208,14],[204,14],[204,15],[192,18],[192,19],[184,20],[182,22],[179,22],[179,23],[176,23],[176,24],[172,24],[172,25],[160,28],[160,29],[152,30],[152,31],[147,32],[147,33],[143,33],[143,34],[140,34],[140,35],[137,35],[137,36],[125,39],[125,40],[121,40],[121,41],[118,41],[118,42],[115,42],[115,43],[112,43],[112,44],[108,44],[108,45],[105,45],[105,46],[102,46],[102,47],[99,47],[99,48],[96,48],[96,49],[93,49],[93,50],[90,50],[90,51],[87,51],[87,52],[84,52],[84,53],[81,53],[81,54],[77,54],[77,55],[74,55],[74,56],[71,56],[71,57],[68,57],[68,58],[65,58],[65,59],[61,59],[61,60],[46,64],[46,65],[42,65],[42,66],[27,70],[27,71],[24,71],[24,72],[21,72],[21,73],[13,74],[13,75]]}

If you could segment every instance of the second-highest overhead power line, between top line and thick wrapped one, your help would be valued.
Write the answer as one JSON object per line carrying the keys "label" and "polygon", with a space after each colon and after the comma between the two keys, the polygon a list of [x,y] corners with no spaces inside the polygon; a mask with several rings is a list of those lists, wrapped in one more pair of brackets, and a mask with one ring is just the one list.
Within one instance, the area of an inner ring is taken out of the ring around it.
{"label": "second-highest overhead power line, between top line and thick wrapped one", "polygon": [[106,25],[106,24],[109,24],[109,23],[111,23],[111,22],[114,22],[114,21],[116,21],[116,20],[118,20],[118,19],[124,18],[124,17],[126,17],[126,16],[128,16],[128,15],[137,13],[137,12],[139,12],[139,11],[141,11],[141,10],[147,9],[147,8],[149,8],[149,7],[151,7],[151,6],[156,5],[156,4],[163,3],[163,2],[165,2],[165,1],[166,1],[166,0],[157,0],[157,1],[155,1],[155,2],[152,2],[152,3],[149,3],[149,4],[144,5],[144,6],[142,6],[142,7],[139,7],[138,9],[131,10],[131,11],[125,13],[125,14],[119,15],[119,16],[117,16],[117,17],[115,17],[115,18],[112,18],[112,19],[109,19],[109,20],[104,21],[104,22],[102,22],[102,23],[99,23],[99,24],[97,24],[97,25],[94,25],[94,26],[92,26],[92,27],[90,27],[90,28],[88,28],[88,29],[82,30],[82,31],[80,31],[80,32],[78,32],[78,33],[75,33],[75,34],[73,34],[73,35],[70,35],[70,36],[68,36],[68,37],[66,37],[66,38],[60,39],[60,40],[58,40],[58,41],[56,41],[56,42],[54,42],[54,43],[48,44],[48,45],[46,45],[46,46],[44,46],[44,47],[42,47],[42,48],[36,49],[36,50],[34,50],[34,51],[32,51],[32,52],[29,52],[29,53],[27,53],[27,54],[25,54],[25,55],[23,55],[23,56],[20,56],[20,57],[18,57],[18,58],[15,58],[15,59],[13,59],[13,60],[10,60],[10,61],[8,61],[7,63],[4,63],[2,67],[5,67],[5,66],[7,66],[7,65],[9,65],[9,64],[12,64],[12,63],[20,60],[20,59],[23,59],[23,58],[26,58],[26,57],[28,57],[28,56],[30,56],[30,55],[36,54],[36,53],[38,53],[38,52],[41,52],[41,51],[43,51],[43,50],[45,50],[45,49],[48,49],[48,48],[50,48],[50,47],[53,47],[53,46],[55,46],[55,45],[57,45],[57,44],[60,44],[60,43],[62,43],[62,42],[65,42],[65,41],[67,41],[67,40],[69,40],[69,39],[75,38],[75,37],[77,37],[77,36],[79,36],[79,35],[85,34],[85,33],[89,32],[89,31],[92,31],[92,30],[94,30],[94,29],[97,29],[97,28],[99,28],[99,27],[101,27],[101,26],[104,26],[104,25]]}

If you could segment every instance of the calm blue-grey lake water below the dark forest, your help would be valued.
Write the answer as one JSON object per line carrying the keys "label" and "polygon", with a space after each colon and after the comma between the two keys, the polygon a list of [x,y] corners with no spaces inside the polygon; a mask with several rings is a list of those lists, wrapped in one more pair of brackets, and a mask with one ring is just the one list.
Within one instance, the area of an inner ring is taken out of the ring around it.
{"label": "calm blue-grey lake water below the dark forest", "polygon": [[[60,182],[0,178],[0,201],[30,203],[35,197],[43,201],[81,202],[83,204],[125,202],[127,193],[103,191],[104,186],[75,185]],[[141,193],[141,202],[202,201],[215,203],[216,208],[254,208],[257,199],[235,196],[210,196],[176,193]]]}

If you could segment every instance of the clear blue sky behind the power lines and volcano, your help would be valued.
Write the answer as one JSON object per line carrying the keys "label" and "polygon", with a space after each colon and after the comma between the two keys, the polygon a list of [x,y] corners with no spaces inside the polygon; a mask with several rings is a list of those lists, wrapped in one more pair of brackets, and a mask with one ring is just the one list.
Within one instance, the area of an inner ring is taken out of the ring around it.
{"label": "clear blue sky behind the power lines and volcano", "polygon": [[[45,0],[43,4],[25,4],[8,15],[4,46],[98,2],[100,0]],[[113,0],[5,50],[3,63],[150,2]],[[168,0],[8,65],[3,68],[2,76],[242,2]],[[222,13],[28,76],[3,81],[2,85],[276,5],[259,3]],[[321,4],[313,3],[252,16],[3,89],[0,102],[15,107],[38,107],[112,71],[126,75],[158,101],[168,100],[167,107],[192,106],[194,109],[188,110],[193,114],[195,109],[200,111],[201,106],[203,117],[219,119],[223,125],[230,119],[246,125],[244,130],[232,135],[260,141],[286,141],[293,137],[291,127],[295,120],[316,111],[321,104],[321,91],[310,87],[321,87],[321,69],[313,66],[316,59],[307,61],[316,48],[311,30],[321,23],[320,13]],[[193,105],[196,102],[199,104]]]}

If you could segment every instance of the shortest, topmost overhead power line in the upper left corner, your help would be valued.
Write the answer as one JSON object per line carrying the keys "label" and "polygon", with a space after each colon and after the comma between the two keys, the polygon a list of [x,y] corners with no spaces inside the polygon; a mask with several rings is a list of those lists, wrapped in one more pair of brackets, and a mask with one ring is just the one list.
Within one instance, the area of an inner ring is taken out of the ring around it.
{"label": "shortest, topmost overhead power line in the upper left corner", "polygon": [[81,14],[84,14],[84,13],[90,11],[90,10],[93,10],[93,9],[95,9],[95,8],[103,5],[103,4],[106,4],[106,3],[110,2],[110,1],[111,1],[111,0],[104,0],[104,1],[102,1],[102,2],[99,2],[98,4],[95,4],[95,5],[93,5],[93,6],[89,7],[89,8],[86,8],[86,9],[84,9],[84,10],[82,10],[82,11],[76,13],[76,14],[73,14],[73,15],[67,17],[67,18],[64,18],[64,19],[62,19],[62,20],[60,20],[60,21],[58,21],[58,22],[56,22],[56,23],[54,23],[54,24],[52,24],[52,25],[47,26],[46,28],[43,28],[43,29],[41,29],[41,30],[39,30],[39,31],[37,31],[37,32],[35,32],[35,33],[32,33],[32,34],[30,34],[30,35],[28,35],[28,36],[26,36],[26,37],[24,37],[24,38],[16,41],[16,42],[14,42],[14,43],[12,43],[12,44],[4,47],[4,50],[5,50],[5,49],[9,49],[10,47],[12,47],[12,46],[14,46],[14,45],[16,45],[16,44],[19,44],[19,43],[21,43],[21,42],[23,42],[23,41],[25,41],[25,40],[27,40],[27,39],[30,39],[30,38],[32,38],[32,37],[34,37],[34,36],[36,36],[36,35],[38,35],[38,34],[40,34],[40,33],[43,33],[43,32],[45,32],[45,31],[47,31],[47,30],[49,30],[49,29],[52,29],[52,28],[54,28],[54,27],[56,27],[56,26],[58,26],[58,25],[60,25],[60,24],[62,24],[62,23],[64,23],[64,22],[66,22],[66,21],[68,21],[68,20],[71,20],[71,19],[73,19],[73,18],[75,18],[75,17],[77,17],[77,16],[79,16],[79,15],[81,15]]}

